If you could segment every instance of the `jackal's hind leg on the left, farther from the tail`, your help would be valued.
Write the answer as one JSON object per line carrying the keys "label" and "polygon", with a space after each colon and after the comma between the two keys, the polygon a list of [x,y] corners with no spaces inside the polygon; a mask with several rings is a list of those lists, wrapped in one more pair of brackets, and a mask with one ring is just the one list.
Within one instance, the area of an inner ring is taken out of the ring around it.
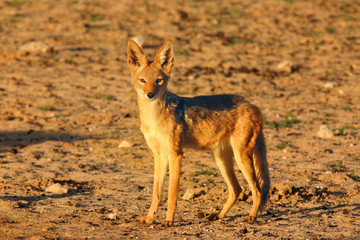
{"label": "jackal's hind leg on the left, farther from the tail", "polygon": [[224,218],[230,208],[234,206],[241,192],[241,187],[234,172],[233,152],[231,147],[218,147],[213,151],[213,154],[215,163],[229,188],[229,196],[220,213],[210,215],[210,221]]}

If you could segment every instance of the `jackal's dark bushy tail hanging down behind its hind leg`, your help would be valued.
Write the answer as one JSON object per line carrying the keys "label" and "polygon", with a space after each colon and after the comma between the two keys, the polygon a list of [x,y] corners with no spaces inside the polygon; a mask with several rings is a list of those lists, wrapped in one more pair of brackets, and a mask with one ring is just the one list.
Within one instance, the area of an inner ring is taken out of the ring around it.
{"label": "jackal's dark bushy tail hanging down behind its hind leg", "polygon": [[261,132],[256,139],[256,147],[253,153],[253,161],[257,185],[261,192],[261,204],[259,213],[264,210],[270,191],[269,166],[266,159],[266,146],[264,135]]}

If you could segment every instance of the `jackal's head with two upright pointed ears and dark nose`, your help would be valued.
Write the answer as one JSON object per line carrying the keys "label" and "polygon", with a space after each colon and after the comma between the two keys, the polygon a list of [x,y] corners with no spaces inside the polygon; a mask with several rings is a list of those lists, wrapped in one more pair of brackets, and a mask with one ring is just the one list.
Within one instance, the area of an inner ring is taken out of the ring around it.
{"label": "jackal's head with two upright pointed ears and dark nose", "polygon": [[138,95],[148,100],[163,97],[174,65],[173,42],[167,40],[158,50],[153,62],[148,62],[139,45],[132,40],[128,43],[127,52],[131,80]]}

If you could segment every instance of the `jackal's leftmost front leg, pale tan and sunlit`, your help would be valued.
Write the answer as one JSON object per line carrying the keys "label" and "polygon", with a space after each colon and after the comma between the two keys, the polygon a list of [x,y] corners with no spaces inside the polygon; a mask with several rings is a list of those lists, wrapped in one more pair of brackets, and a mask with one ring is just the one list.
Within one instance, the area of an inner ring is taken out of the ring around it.
{"label": "jackal's leftmost front leg, pale tan and sunlit", "polygon": [[139,222],[147,224],[152,224],[154,222],[154,216],[159,208],[161,191],[168,167],[168,160],[166,158],[161,158],[159,153],[154,152],[154,160],[154,185],[151,206],[148,215],[139,218]]}

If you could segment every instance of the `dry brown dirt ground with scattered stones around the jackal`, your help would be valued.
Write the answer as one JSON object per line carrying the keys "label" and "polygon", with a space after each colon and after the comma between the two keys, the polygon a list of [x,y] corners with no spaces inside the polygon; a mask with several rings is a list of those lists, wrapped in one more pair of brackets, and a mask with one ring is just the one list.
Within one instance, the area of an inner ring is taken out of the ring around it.
{"label": "dry brown dirt ground with scattered stones around the jackal", "polygon": [[[252,198],[240,172],[238,203],[206,220],[227,191],[211,153],[192,150],[175,226],[160,227],[166,188],[155,223],[136,222],[153,160],[133,37],[150,58],[174,40],[174,93],[262,109],[272,189],[255,224],[241,222]],[[0,239],[360,238],[359,1],[3,0],[0,39]]]}

